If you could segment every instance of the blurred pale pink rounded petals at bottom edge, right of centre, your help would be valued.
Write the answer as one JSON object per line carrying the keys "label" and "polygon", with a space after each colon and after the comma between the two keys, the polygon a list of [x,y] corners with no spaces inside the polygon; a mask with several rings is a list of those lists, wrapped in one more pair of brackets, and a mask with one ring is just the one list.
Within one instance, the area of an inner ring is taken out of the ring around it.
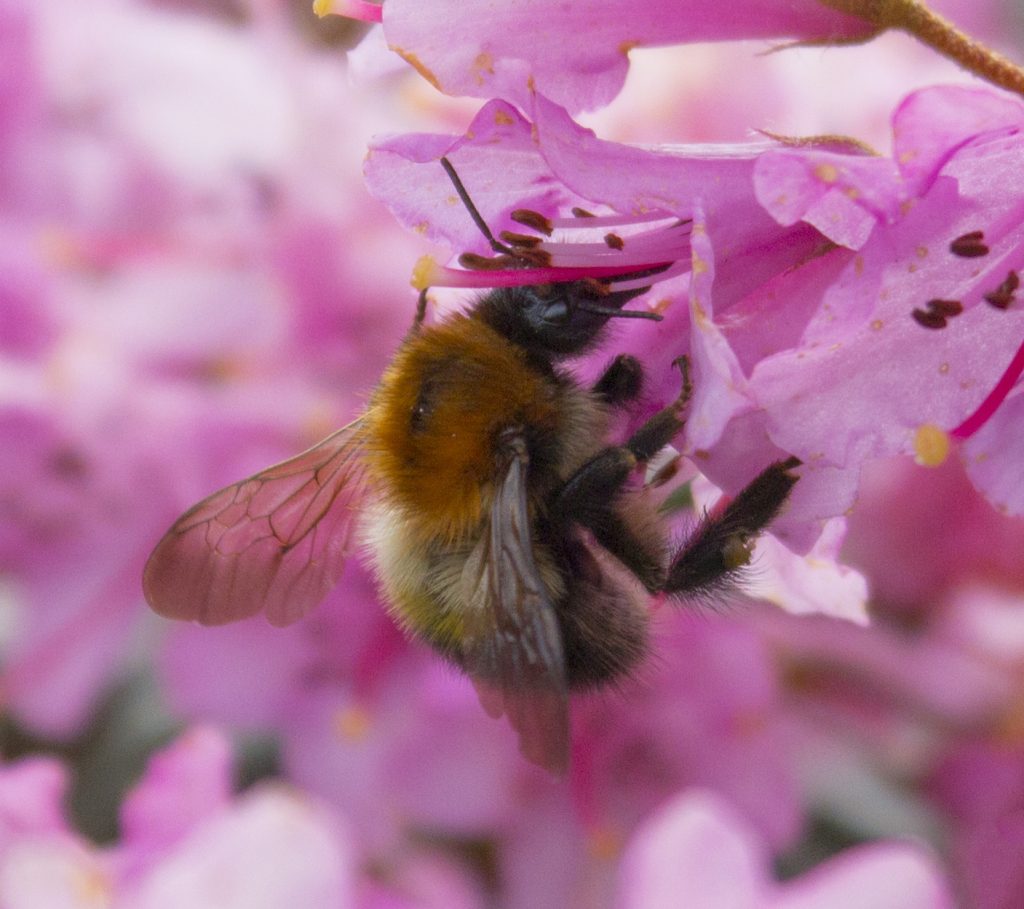
{"label": "blurred pale pink rounded petals at bottom edge, right of centre", "polygon": [[712,792],[666,804],[631,840],[620,874],[620,909],[951,909],[952,895],[923,849],[878,842],[847,850],[779,884],[769,856],[741,817]]}

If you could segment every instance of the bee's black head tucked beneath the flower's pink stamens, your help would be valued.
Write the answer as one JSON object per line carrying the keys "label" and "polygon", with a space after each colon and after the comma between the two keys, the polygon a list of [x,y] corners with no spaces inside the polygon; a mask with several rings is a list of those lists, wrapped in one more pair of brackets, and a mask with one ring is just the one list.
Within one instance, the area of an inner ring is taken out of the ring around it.
{"label": "bee's black head tucked beneath the flower's pink stamens", "polygon": [[589,280],[501,288],[480,299],[473,314],[527,350],[571,356],[596,344],[609,318],[652,316],[623,309],[647,290],[607,291]]}

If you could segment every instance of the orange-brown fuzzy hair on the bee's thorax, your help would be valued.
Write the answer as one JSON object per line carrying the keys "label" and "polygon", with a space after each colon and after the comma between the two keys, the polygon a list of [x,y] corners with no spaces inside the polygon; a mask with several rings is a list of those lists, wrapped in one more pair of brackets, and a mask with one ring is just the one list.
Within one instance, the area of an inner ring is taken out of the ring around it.
{"label": "orange-brown fuzzy hair on the bee's thorax", "polygon": [[457,315],[413,335],[384,373],[368,416],[368,466],[424,538],[480,524],[510,426],[557,433],[557,384],[493,329]]}

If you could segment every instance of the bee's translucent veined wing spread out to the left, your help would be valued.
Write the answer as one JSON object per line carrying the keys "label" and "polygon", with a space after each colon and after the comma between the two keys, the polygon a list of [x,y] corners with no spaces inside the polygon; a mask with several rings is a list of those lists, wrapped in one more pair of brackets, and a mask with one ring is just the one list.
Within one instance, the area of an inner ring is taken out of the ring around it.
{"label": "bee's translucent veined wing spread out to the left", "polygon": [[356,420],[189,509],[146,562],[150,605],[203,624],[260,611],[275,625],[300,618],[337,583],[352,550],[364,445]]}

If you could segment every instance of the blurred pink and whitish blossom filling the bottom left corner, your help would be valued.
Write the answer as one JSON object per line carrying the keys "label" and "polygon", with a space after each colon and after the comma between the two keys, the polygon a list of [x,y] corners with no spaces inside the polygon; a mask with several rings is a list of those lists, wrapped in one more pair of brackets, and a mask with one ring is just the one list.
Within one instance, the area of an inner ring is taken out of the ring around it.
{"label": "blurred pink and whitish blossom filling the bottom left corner", "polygon": [[264,783],[232,795],[230,749],[211,728],[152,759],[127,795],[114,846],[99,849],[72,830],[66,782],[52,760],[0,767],[5,909],[480,905],[468,879],[429,853],[411,852],[389,879],[360,874],[347,825],[301,791]]}

